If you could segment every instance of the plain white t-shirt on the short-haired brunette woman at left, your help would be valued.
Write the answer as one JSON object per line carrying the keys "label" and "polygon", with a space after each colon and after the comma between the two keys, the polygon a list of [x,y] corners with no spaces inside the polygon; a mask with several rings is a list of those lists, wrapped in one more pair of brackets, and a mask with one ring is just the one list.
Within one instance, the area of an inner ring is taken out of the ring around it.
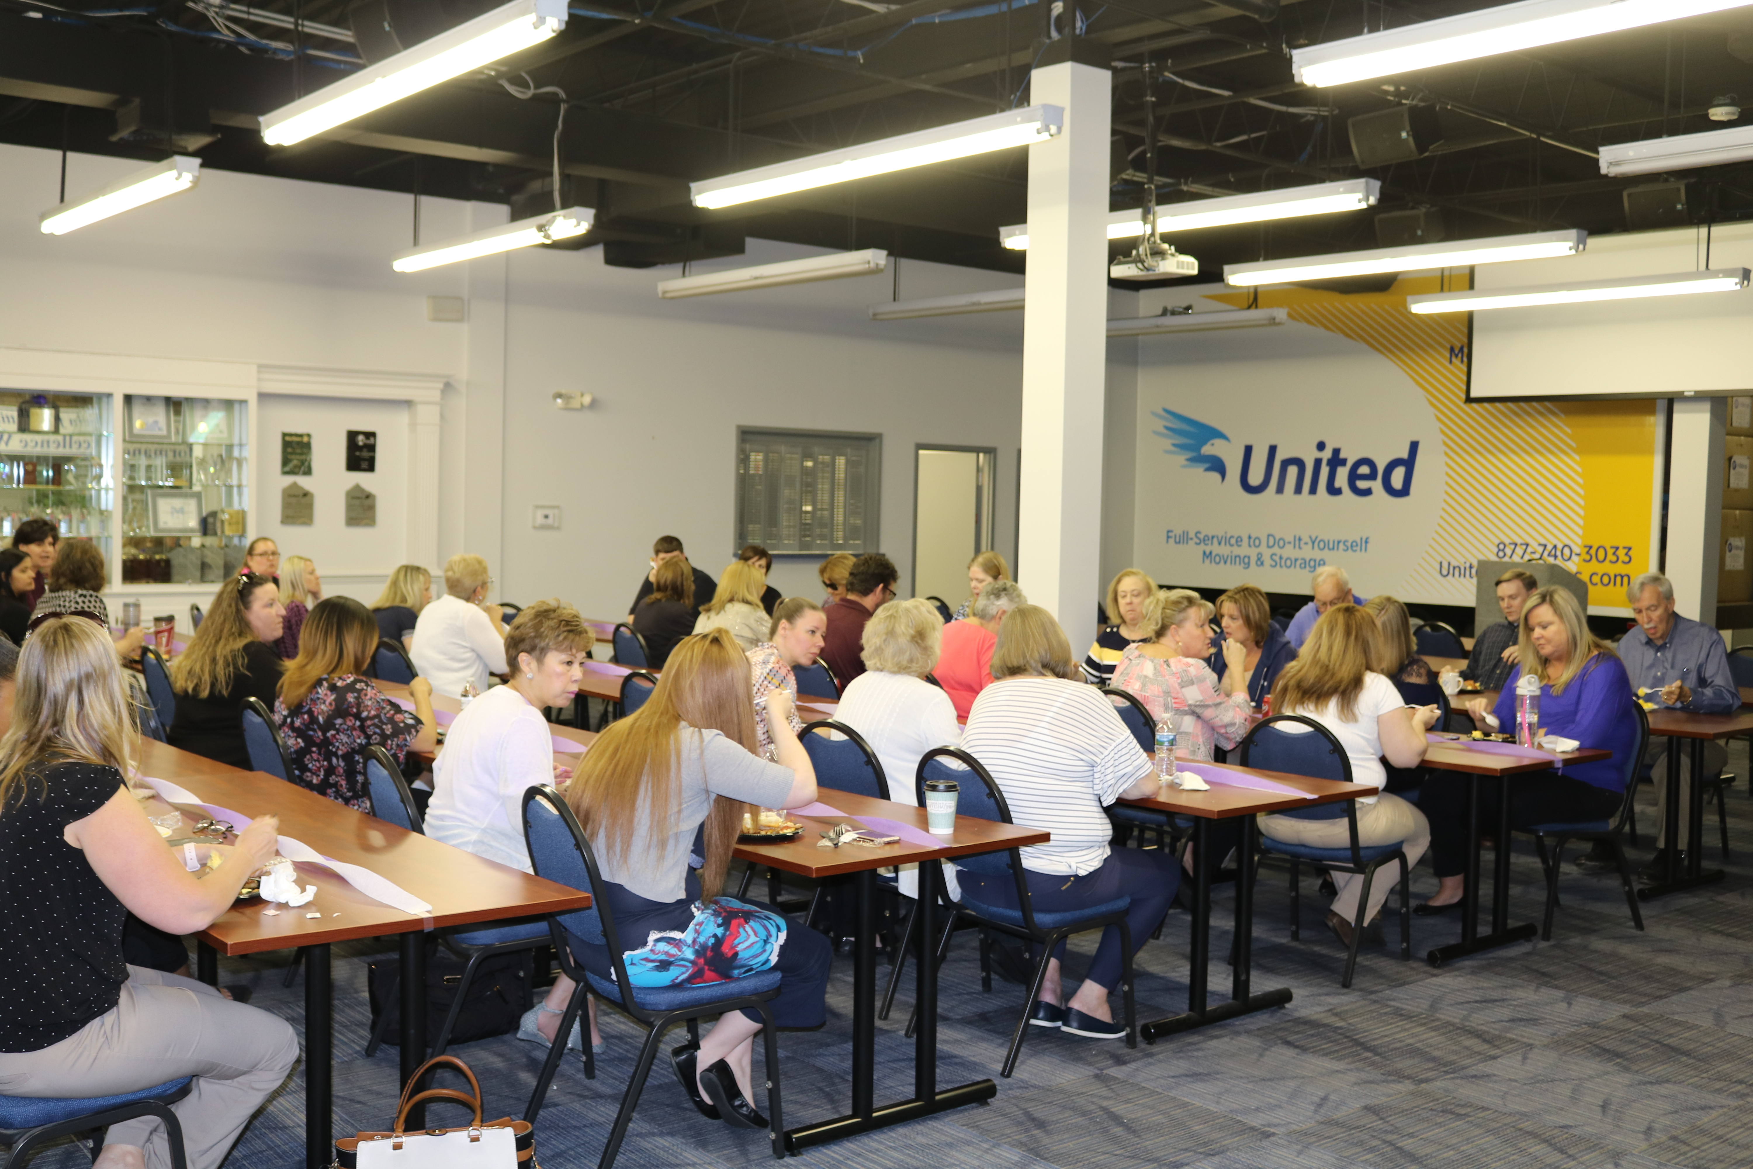
{"label": "plain white t-shirt on the short-haired brunette woman at left", "polygon": [[529,873],[524,790],[552,782],[547,719],[512,687],[493,687],[465,706],[445,734],[433,764],[426,834]]}

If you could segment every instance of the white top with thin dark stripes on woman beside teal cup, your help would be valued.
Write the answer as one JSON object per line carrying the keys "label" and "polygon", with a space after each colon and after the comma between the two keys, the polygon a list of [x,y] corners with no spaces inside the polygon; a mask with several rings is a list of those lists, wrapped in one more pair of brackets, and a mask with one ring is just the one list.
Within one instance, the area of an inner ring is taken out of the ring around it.
{"label": "white top with thin dark stripes on woman beside teal cup", "polygon": [[1113,701],[1066,678],[1001,678],[980,691],[962,748],[992,773],[1011,820],[1054,834],[1022,850],[1034,873],[1099,869],[1113,836],[1104,808],[1152,773]]}

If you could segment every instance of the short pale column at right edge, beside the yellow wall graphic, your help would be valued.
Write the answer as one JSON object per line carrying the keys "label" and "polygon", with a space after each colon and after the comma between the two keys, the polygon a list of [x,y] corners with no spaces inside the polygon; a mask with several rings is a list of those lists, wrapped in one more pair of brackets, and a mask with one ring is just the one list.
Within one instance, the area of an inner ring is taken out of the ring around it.
{"label": "short pale column at right edge, beside the yellow wall graphic", "polygon": [[1667,578],[1681,615],[1716,624],[1723,536],[1723,398],[1676,398],[1667,475]]}

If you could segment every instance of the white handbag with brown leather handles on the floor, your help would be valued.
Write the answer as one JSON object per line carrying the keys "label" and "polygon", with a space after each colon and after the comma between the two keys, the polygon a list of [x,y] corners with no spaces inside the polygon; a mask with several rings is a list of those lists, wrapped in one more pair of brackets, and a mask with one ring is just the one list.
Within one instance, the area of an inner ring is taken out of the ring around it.
{"label": "white handbag with brown leather handles on the floor", "polygon": [[[456,1067],[468,1078],[470,1092],[454,1088],[428,1088],[408,1095],[421,1078],[438,1066]],[[468,1104],[473,1123],[461,1129],[407,1130],[408,1109],[422,1101],[458,1101]],[[361,1132],[335,1141],[333,1169],[542,1169],[536,1164],[535,1132],[528,1120],[480,1118],[480,1081],[468,1064],[454,1055],[440,1055],[421,1064],[396,1104],[396,1127],[391,1132]]]}

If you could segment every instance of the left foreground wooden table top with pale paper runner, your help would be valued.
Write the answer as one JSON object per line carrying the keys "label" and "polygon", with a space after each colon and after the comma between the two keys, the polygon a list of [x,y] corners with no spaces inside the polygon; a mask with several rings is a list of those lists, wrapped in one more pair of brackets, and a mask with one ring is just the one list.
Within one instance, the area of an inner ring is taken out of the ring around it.
{"label": "left foreground wooden table top with pale paper runner", "polygon": [[[324,866],[300,864],[300,883],[316,885],[317,896],[298,908],[238,901],[200,934],[202,941],[221,953],[379,938],[591,904],[589,894],[577,889],[408,832],[272,775],[238,771],[154,740],[144,740],[140,754],[142,775],[170,780],[205,803],[247,817],[279,815],[282,834],[302,840],[326,857],[365,866],[433,906],[431,918],[419,918],[366,897]],[[179,811],[184,811],[184,818],[191,811],[195,818],[207,815],[191,808]],[[279,913],[268,915],[266,910]],[[323,917],[312,918],[309,913]]]}

